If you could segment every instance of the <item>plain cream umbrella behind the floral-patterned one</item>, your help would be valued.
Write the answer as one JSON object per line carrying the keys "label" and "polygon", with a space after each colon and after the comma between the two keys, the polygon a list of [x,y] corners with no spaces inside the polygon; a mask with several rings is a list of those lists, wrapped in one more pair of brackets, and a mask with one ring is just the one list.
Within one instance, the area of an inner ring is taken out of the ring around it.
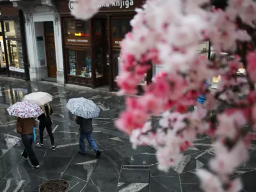
{"label": "plain cream umbrella behind the floral-patterned one", "polygon": [[47,102],[52,101],[52,95],[45,92],[34,92],[26,95],[22,101],[33,102],[38,104],[38,106],[43,106]]}

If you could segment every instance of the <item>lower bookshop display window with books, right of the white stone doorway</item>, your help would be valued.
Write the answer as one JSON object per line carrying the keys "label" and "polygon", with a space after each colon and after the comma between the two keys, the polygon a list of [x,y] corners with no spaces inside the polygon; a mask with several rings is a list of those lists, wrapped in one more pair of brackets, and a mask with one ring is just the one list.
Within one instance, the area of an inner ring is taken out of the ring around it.
{"label": "lower bookshop display window with books, right of the white stone doorway", "polygon": [[68,74],[70,76],[92,77],[90,49],[68,49]]}

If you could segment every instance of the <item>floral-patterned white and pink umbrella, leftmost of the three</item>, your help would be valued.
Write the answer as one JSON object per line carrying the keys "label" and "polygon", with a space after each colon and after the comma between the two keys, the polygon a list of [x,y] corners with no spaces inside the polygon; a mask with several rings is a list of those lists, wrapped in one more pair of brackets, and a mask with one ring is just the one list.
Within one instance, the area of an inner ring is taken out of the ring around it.
{"label": "floral-patterned white and pink umbrella, leftmost of the three", "polygon": [[36,118],[44,113],[37,104],[28,101],[17,102],[10,106],[7,111],[9,115],[20,118]]}

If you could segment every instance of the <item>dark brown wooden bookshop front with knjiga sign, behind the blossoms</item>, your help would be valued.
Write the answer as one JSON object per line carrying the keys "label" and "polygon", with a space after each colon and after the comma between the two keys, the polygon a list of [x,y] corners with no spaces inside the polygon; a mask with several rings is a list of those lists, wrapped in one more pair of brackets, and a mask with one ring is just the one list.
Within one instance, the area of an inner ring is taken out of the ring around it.
{"label": "dark brown wooden bookshop front with knjiga sign, behind the blossoms", "polygon": [[[134,9],[142,4],[143,0],[105,4],[92,19],[83,21],[70,15],[73,6],[68,6],[68,0],[60,1],[67,83],[117,88],[120,42],[132,29]],[[141,85],[147,84],[146,77]]]}

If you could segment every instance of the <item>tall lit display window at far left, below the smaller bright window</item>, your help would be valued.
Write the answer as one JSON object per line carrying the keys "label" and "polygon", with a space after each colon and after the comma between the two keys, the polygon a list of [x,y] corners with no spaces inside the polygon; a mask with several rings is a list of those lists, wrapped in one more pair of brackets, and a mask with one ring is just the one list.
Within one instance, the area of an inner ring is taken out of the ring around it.
{"label": "tall lit display window at far left, below the smaller bright window", "polygon": [[24,72],[22,45],[20,41],[6,40],[9,70]]}

